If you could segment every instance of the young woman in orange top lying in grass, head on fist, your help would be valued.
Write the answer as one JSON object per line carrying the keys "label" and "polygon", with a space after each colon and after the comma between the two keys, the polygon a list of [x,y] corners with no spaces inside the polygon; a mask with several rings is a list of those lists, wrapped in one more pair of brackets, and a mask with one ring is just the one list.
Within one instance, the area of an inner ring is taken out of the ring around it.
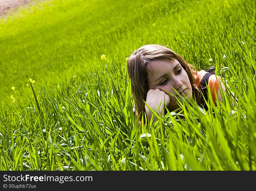
{"label": "young woman in orange top lying in grass, head on fist", "polygon": [[[167,47],[157,44],[142,46],[131,54],[127,67],[131,78],[136,114],[139,115],[144,111],[149,120],[152,112],[143,100],[155,111],[161,102],[158,113],[162,116],[165,107],[169,111],[179,108],[177,99],[167,91],[177,97],[177,93],[188,99],[195,97],[198,105],[206,107],[201,91],[206,97],[206,85],[208,85],[214,103],[216,104],[216,99],[222,102],[219,87],[224,92],[225,87],[220,77],[204,70],[197,71],[195,67],[186,63],[181,56]],[[215,93],[217,93],[217,98]]]}

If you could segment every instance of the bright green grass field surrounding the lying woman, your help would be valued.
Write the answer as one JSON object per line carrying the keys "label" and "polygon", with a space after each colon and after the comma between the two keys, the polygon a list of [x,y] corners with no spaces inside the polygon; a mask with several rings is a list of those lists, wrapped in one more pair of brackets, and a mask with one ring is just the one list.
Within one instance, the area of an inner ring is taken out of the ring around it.
{"label": "bright green grass field surrounding the lying woman", "polygon": [[[256,170],[255,10],[47,0],[0,18],[0,170]],[[183,113],[140,128],[126,58],[145,44],[216,66],[223,103],[181,102]]]}

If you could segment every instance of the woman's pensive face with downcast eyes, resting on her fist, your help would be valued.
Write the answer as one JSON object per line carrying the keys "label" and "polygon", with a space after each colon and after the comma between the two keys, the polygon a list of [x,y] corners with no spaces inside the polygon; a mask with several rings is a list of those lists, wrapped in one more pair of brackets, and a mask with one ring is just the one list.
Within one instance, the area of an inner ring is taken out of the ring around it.
{"label": "woman's pensive face with downcast eyes, resting on her fist", "polygon": [[176,98],[165,90],[177,96],[174,88],[182,96],[185,94],[188,99],[192,99],[192,87],[188,74],[177,59],[174,58],[173,61],[168,59],[153,60],[146,69],[148,90],[158,88],[165,92],[170,97],[170,103],[167,106],[169,110],[178,108],[178,104]]}

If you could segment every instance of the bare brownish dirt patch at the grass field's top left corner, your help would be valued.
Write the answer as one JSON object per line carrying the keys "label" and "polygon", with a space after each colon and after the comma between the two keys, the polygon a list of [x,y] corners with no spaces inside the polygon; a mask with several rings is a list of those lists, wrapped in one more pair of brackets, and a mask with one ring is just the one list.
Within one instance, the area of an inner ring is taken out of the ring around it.
{"label": "bare brownish dirt patch at the grass field's top left corner", "polygon": [[27,5],[33,0],[0,0],[0,17],[15,11],[18,7]]}

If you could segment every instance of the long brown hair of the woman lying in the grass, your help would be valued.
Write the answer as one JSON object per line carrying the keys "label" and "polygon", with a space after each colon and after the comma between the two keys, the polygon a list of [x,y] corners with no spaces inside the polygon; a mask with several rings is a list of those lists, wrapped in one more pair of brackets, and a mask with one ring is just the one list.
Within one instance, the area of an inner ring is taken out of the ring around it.
{"label": "long brown hair of the woman lying in the grass", "polygon": [[[167,58],[173,61],[176,58],[183,69],[186,71],[191,83],[193,95],[196,97],[197,103],[201,103],[201,93],[196,85],[197,69],[186,63],[186,61],[171,49],[157,44],[147,44],[135,50],[127,61],[127,69],[131,78],[131,91],[135,101],[135,109],[137,115],[142,111],[145,112],[145,103],[147,97],[147,71],[146,66],[152,60]],[[141,115],[142,116],[142,115]]]}

